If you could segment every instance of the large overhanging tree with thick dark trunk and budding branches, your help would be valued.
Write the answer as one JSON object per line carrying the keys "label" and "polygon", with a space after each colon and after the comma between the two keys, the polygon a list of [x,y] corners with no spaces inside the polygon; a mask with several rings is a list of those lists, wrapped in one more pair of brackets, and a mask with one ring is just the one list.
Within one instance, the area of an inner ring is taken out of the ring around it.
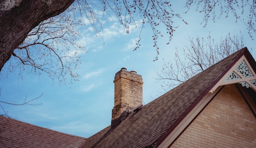
{"label": "large overhanging tree with thick dark trunk and budding branches", "polygon": [[[202,23],[205,25],[209,18],[215,21],[216,17],[232,13],[236,21],[241,20],[248,26],[251,37],[256,32],[255,0],[187,0],[185,7],[190,10],[193,5],[204,13]],[[245,13],[249,15],[244,16]],[[127,33],[129,24],[142,24],[141,31],[149,25],[157,55],[158,37],[167,33],[171,40],[177,27],[173,26],[173,21],[186,23],[172,10],[169,0],[1,0],[0,71],[13,57],[15,60],[7,65],[9,71],[28,69],[60,82],[65,81],[64,76],[68,74],[76,80],[79,75],[74,69],[80,63],[76,53],[85,51],[85,47],[75,42],[79,37],[76,27],[90,24],[98,34],[103,29],[102,23],[108,19],[106,14],[116,16]],[[89,24],[84,23],[84,19]],[[166,32],[160,31],[162,26],[166,27]],[[134,50],[140,47],[140,40],[139,35]]]}

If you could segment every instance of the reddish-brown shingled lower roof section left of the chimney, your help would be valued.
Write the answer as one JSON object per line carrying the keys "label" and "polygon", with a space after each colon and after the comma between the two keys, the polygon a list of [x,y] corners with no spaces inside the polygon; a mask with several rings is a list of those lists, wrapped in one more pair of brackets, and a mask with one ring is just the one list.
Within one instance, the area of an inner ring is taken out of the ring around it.
{"label": "reddish-brown shingled lower roof section left of the chimney", "polygon": [[0,148],[78,148],[84,140],[0,116]]}

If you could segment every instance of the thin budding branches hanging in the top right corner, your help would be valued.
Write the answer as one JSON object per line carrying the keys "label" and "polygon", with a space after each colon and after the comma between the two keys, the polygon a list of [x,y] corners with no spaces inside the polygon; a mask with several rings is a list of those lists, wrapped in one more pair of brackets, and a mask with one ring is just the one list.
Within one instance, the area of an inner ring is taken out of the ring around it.
{"label": "thin budding branches hanging in the top right corner", "polygon": [[215,22],[216,17],[220,18],[230,17],[231,15],[237,21],[242,21],[248,28],[248,34],[253,40],[253,34],[256,33],[255,21],[256,21],[256,3],[255,0],[187,0],[186,13],[191,9],[191,6],[195,4],[197,6],[196,11],[204,13],[203,20],[204,26],[210,18]]}

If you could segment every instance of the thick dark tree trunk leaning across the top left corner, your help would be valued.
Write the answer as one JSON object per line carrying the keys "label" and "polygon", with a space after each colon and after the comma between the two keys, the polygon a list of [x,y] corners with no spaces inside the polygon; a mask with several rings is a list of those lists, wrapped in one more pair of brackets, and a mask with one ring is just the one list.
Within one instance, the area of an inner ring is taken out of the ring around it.
{"label": "thick dark tree trunk leaning across the top left corner", "polygon": [[0,71],[41,21],[65,11],[74,0],[3,0],[0,2]]}

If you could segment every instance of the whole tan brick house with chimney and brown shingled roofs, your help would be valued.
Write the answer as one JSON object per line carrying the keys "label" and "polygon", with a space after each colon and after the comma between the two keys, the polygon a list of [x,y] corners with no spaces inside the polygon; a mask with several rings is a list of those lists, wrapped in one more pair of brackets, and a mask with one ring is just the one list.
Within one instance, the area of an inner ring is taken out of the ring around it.
{"label": "whole tan brick house with chimney and brown shingled roofs", "polygon": [[136,71],[118,71],[112,123],[87,139],[0,116],[0,148],[41,136],[45,143],[29,147],[256,148],[256,62],[247,48],[144,106],[142,84]]}

